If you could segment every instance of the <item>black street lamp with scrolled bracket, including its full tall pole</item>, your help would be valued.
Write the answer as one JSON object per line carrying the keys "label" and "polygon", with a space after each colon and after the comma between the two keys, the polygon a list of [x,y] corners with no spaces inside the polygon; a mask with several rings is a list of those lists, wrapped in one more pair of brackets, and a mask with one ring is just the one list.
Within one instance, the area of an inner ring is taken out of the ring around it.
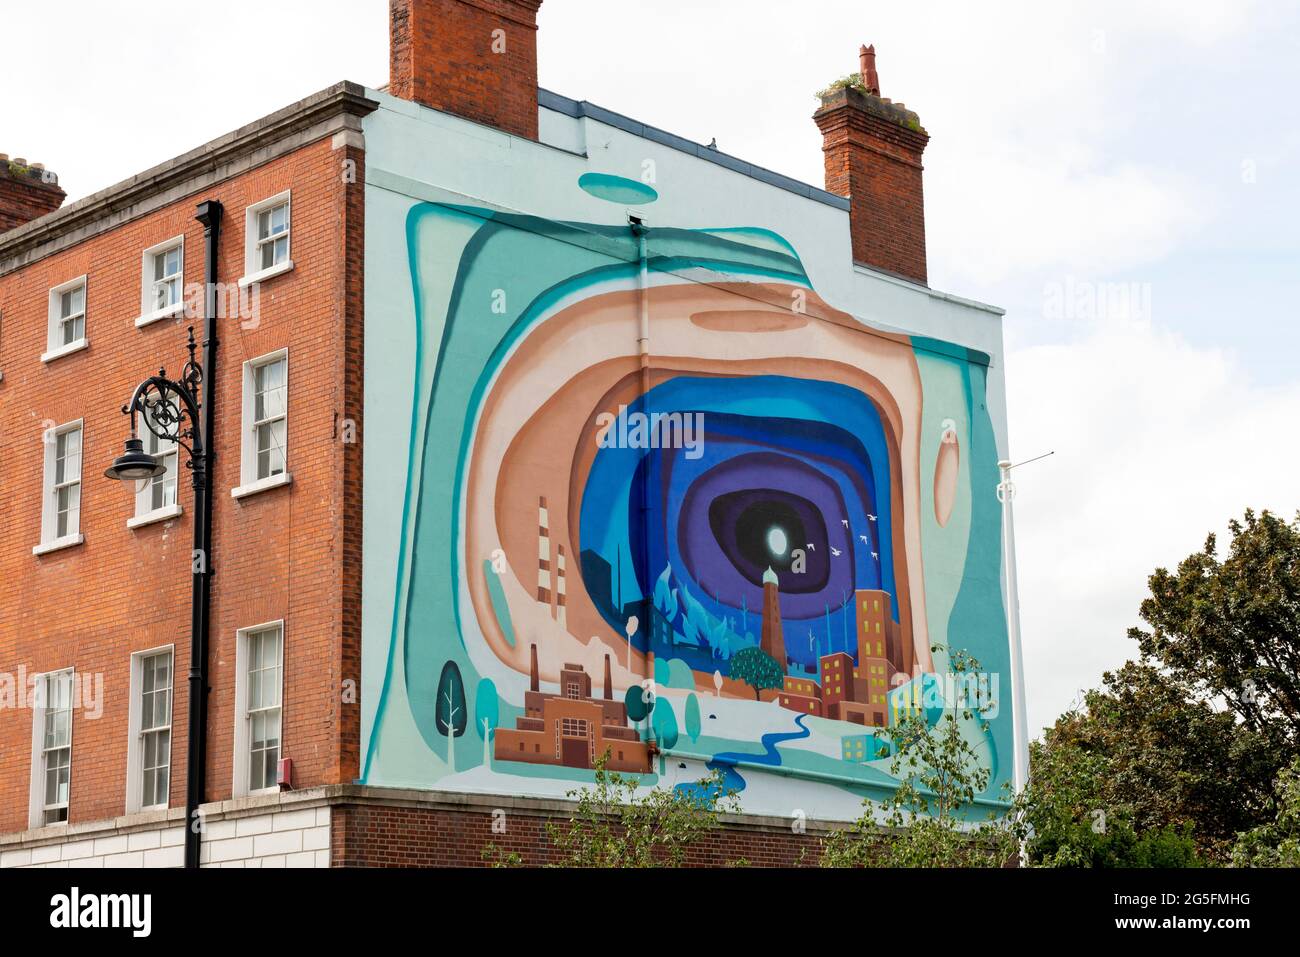
{"label": "black street lamp with scrolled bracket, including its full tall pole", "polygon": [[178,380],[165,369],[150,376],[122,406],[130,416],[131,432],[126,447],[104,475],[118,481],[139,481],[165,472],[165,467],[144,451],[139,423],[157,438],[185,449],[194,488],[194,553],[190,559],[190,718],[186,728],[185,780],[185,866],[199,866],[202,820],[199,805],[204,797],[208,746],[208,627],[212,607],[212,430],[217,359],[217,242],[221,233],[221,203],[199,203],[195,218],[203,224],[204,239],[204,333],[203,364],[196,361],[198,343],[190,326],[186,361]]}

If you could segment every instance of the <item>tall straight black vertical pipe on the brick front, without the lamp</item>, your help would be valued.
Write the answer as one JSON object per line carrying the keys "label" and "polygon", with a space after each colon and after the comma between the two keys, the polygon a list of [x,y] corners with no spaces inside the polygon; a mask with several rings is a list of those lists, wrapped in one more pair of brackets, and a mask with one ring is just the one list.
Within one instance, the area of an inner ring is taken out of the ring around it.
{"label": "tall straight black vertical pipe on the brick front, without the lamp", "polygon": [[203,455],[194,469],[194,588],[190,605],[190,724],[186,728],[185,866],[199,866],[203,822],[199,805],[207,791],[208,767],[208,629],[212,609],[212,485],[217,394],[217,243],[221,239],[221,203],[199,203],[194,217],[203,224]]}

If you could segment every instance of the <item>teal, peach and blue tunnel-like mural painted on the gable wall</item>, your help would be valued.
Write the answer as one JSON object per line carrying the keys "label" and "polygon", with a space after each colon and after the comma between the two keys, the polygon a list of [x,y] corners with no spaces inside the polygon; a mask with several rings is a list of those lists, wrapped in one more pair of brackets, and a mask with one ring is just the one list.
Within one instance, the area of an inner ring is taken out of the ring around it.
{"label": "teal, peach and blue tunnel-like mural painted on the gable wall", "polygon": [[385,452],[404,501],[367,512],[400,508],[402,534],[363,780],[563,794],[604,754],[646,787],[707,766],[746,810],[853,818],[952,648],[994,683],[991,729],[965,727],[993,797],[987,359],[837,311],[771,231],[640,233],[410,209],[412,308],[384,321],[415,324],[415,395],[367,407],[411,443]]}

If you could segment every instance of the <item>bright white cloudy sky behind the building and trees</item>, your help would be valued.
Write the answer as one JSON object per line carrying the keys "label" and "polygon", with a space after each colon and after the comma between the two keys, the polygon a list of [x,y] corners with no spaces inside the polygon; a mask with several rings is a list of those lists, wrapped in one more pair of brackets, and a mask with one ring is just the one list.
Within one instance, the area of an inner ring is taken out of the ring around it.
{"label": "bright white cloudy sky behind the building and trees", "polygon": [[[875,43],[932,137],[931,282],[1009,309],[1013,451],[1057,452],[1018,476],[1032,728],[1134,654],[1156,566],[1300,507],[1294,4],[546,0],[540,23],[542,86],[814,185],[812,92]],[[387,79],[386,0],[46,0],[4,27],[0,151],[69,199]],[[1060,308],[1102,283],[1108,308]]]}

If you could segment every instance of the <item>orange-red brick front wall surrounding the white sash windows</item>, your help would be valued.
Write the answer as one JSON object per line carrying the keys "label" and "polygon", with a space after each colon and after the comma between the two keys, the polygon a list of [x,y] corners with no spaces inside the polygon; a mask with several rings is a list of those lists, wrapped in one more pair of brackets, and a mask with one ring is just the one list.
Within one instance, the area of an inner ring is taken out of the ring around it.
{"label": "orange-red brick front wall surrounding the white sash windows", "polygon": [[[344,182],[343,160],[355,163]],[[181,469],[176,519],[129,529],[125,486],[103,476],[129,428],[121,413],[135,385],[159,367],[178,376],[186,326],[200,317],[136,328],[142,251],[185,235],[185,282],[203,283],[203,228],[195,204],[225,207],[218,281],[244,272],[244,211],[291,190],[294,268],[260,289],[256,324],[218,322],[213,477],[211,688],[205,800],[231,794],[235,632],[283,619],[283,745],[294,785],[352,781],[359,703],[342,703],[360,679],[360,441],[341,441],[344,420],[361,434],[364,152],[329,138],[165,208],[0,276],[0,671],[74,667],[103,675],[103,716],[73,714],[69,820],[124,814],[130,657],[173,645],[170,806],[185,804],[186,672],[190,667],[190,557],[194,495]],[[0,235],[3,238],[3,235]],[[87,276],[81,352],[40,361],[48,293]],[[243,363],[289,350],[289,471],[292,484],[240,501]],[[43,432],[83,419],[81,532],[84,544],[43,557]],[[181,452],[183,460],[183,450]],[[350,523],[350,524],[348,524]],[[31,711],[0,714],[0,833],[29,818]]]}

